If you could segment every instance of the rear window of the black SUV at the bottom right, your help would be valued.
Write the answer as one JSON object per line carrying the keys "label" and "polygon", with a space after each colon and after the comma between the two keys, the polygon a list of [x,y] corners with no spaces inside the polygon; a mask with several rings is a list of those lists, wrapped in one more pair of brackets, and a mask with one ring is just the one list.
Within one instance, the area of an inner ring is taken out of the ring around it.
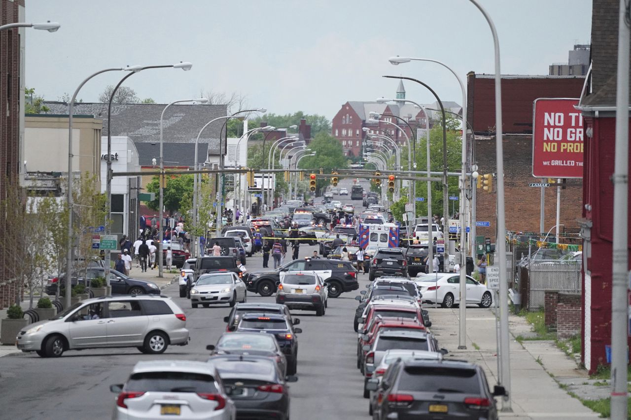
{"label": "rear window of the black SUV at the bottom right", "polygon": [[398,390],[422,392],[454,392],[480,395],[480,378],[475,369],[442,366],[406,366],[400,376]]}

